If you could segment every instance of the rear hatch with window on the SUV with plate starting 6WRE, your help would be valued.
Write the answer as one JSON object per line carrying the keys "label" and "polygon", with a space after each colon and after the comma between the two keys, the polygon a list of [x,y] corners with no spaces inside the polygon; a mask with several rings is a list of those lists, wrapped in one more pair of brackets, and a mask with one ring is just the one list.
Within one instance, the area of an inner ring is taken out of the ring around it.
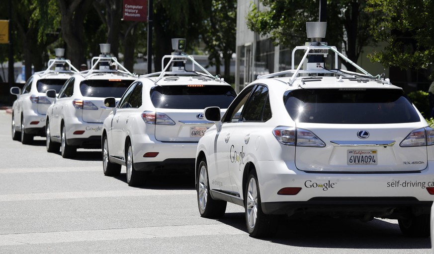
{"label": "rear hatch with window on the SUV with plate starting 6WRE", "polygon": [[168,118],[156,124],[155,137],[166,142],[198,142],[212,123],[203,120],[206,107],[227,109],[236,92],[229,85],[164,85],[151,89],[157,117]]}

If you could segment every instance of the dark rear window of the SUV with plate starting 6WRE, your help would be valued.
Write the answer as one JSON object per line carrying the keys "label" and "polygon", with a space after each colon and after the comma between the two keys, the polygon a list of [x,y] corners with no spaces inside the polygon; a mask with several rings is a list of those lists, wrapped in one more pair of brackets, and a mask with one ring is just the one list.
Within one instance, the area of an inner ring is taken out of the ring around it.
{"label": "dark rear window of the SUV with plate starting 6WRE", "polygon": [[231,86],[171,85],[151,89],[151,101],[156,108],[204,109],[217,106],[226,109],[237,96]]}

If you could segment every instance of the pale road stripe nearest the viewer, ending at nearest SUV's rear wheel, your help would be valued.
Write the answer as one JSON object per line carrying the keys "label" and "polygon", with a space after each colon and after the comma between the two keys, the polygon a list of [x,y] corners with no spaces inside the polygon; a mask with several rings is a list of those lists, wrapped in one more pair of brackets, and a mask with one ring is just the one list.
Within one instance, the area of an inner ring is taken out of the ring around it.
{"label": "pale road stripe nearest the viewer, ending at nearest SUV's rear wheel", "polygon": [[226,224],[61,231],[0,235],[0,246],[205,236],[219,234],[241,235],[247,233]]}

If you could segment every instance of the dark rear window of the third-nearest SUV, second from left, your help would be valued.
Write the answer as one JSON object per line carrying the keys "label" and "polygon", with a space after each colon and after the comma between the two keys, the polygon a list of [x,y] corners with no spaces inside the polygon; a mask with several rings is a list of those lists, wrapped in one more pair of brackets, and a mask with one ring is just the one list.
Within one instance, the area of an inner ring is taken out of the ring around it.
{"label": "dark rear window of the third-nearest SUV, second from left", "polygon": [[86,97],[122,97],[134,80],[85,80],[80,84],[80,92]]}

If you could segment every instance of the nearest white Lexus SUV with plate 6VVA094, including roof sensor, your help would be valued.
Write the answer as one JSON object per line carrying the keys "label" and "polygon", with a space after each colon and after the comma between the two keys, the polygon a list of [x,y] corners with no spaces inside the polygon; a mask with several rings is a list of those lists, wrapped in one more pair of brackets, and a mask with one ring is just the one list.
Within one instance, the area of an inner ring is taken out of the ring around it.
{"label": "nearest white Lexus SUV with plate 6VVA094, including roof sensor", "polygon": [[314,39],[292,56],[291,70],[259,76],[222,117],[204,110],[215,125],[197,147],[200,215],[244,206],[253,237],[273,235],[283,215],[318,214],[397,219],[404,235],[428,237],[434,129],[382,75],[338,69],[347,59],[335,47]]}

